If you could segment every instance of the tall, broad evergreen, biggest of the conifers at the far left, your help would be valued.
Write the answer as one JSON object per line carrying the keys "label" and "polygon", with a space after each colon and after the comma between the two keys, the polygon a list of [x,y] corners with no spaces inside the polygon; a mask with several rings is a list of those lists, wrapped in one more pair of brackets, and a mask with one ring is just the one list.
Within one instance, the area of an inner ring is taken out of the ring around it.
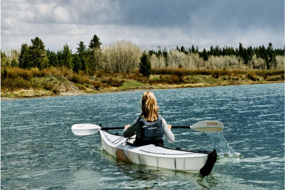
{"label": "tall, broad evergreen, biggest of the conifers at the far left", "polygon": [[39,37],[31,39],[32,45],[29,47],[31,54],[31,67],[38,67],[39,70],[45,68],[48,63],[44,42]]}

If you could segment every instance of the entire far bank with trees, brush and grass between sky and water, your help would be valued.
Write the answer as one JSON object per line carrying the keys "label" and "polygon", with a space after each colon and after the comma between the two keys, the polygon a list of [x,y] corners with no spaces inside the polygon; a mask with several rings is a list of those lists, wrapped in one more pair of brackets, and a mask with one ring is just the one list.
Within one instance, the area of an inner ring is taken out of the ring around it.
{"label": "entire far bank with trees, brush and grass between sky and water", "polygon": [[94,35],[76,52],[57,52],[35,37],[20,49],[1,49],[1,97],[114,92],[284,82],[284,48],[177,46],[144,50],[119,40],[102,45]]}

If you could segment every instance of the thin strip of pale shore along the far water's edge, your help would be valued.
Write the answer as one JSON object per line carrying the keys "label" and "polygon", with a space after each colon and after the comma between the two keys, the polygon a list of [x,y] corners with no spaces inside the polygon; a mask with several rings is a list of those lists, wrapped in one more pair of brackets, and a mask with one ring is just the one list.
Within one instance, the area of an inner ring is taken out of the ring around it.
{"label": "thin strip of pale shore along the far water's edge", "polygon": [[[159,86],[156,88],[153,85],[146,85],[146,86],[137,86],[134,88],[129,88],[129,89],[109,89],[106,90],[106,88],[103,89],[103,91],[97,91],[97,92],[64,92],[59,95],[42,95],[42,96],[29,96],[29,97],[2,97],[1,96],[1,101],[8,101],[8,100],[15,100],[15,99],[32,99],[32,98],[49,98],[49,97],[58,97],[58,96],[78,96],[78,95],[92,95],[92,94],[103,94],[103,93],[116,93],[116,92],[130,92],[130,91],[143,91],[143,90],[165,90],[165,89],[179,89],[179,88],[204,88],[204,87],[218,87],[218,86],[240,86],[240,85],[251,85],[251,84],[272,84],[272,83],[284,83],[280,81],[267,81],[267,82],[249,82],[247,84],[226,84],[226,85],[207,85],[204,83],[194,83],[194,84],[168,84],[164,85],[161,84],[162,86]],[[105,91],[106,90],[106,91]]]}

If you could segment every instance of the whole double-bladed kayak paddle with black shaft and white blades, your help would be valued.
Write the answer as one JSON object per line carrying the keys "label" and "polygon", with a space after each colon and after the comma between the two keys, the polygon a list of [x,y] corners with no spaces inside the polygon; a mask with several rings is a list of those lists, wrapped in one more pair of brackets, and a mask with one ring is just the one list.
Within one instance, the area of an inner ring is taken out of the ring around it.
{"label": "whole double-bladed kayak paddle with black shaft and white blades", "polygon": [[[171,129],[192,129],[194,131],[217,133],[223,130],[224,125],[219,121],[199,121],[192,126],[172,126]],[[95,124],[75,124],[71,130],[76,135],[91,135],[103,130],[124,129],[124,127],[100,127]]]}

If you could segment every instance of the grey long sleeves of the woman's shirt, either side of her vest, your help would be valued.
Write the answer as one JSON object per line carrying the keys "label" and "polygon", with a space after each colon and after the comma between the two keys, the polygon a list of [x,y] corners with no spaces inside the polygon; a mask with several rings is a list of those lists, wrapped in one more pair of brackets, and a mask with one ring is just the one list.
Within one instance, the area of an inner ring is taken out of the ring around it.
{"label": "grey long sleeves of the woman's shirt, either side of her vest", "polygon": [[[139,119],[136,119],[130,127],[124,128],[124,138],[128,138],[132,136],[135,132],[137,132],[137,136],[140,136],[140,124]],[[174,134],[171,132],[171,130],[168,128],[166,121],[162,118],[162,131],[164,137],[167,139],[168,142],[173,143],[174,142]]]}

